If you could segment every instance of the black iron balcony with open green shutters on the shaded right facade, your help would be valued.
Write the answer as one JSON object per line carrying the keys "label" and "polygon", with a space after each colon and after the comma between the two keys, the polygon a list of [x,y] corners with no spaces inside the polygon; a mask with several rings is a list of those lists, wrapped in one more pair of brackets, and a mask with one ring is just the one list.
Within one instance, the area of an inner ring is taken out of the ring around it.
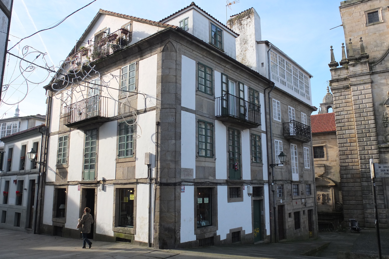
{"label": "black iron balcony with open green shutters on the shaded right facade", "polygon": [[215,98],[215,115],[220,121],[235,122],[244,128],[261,125],[261,107],[232,94]]}

